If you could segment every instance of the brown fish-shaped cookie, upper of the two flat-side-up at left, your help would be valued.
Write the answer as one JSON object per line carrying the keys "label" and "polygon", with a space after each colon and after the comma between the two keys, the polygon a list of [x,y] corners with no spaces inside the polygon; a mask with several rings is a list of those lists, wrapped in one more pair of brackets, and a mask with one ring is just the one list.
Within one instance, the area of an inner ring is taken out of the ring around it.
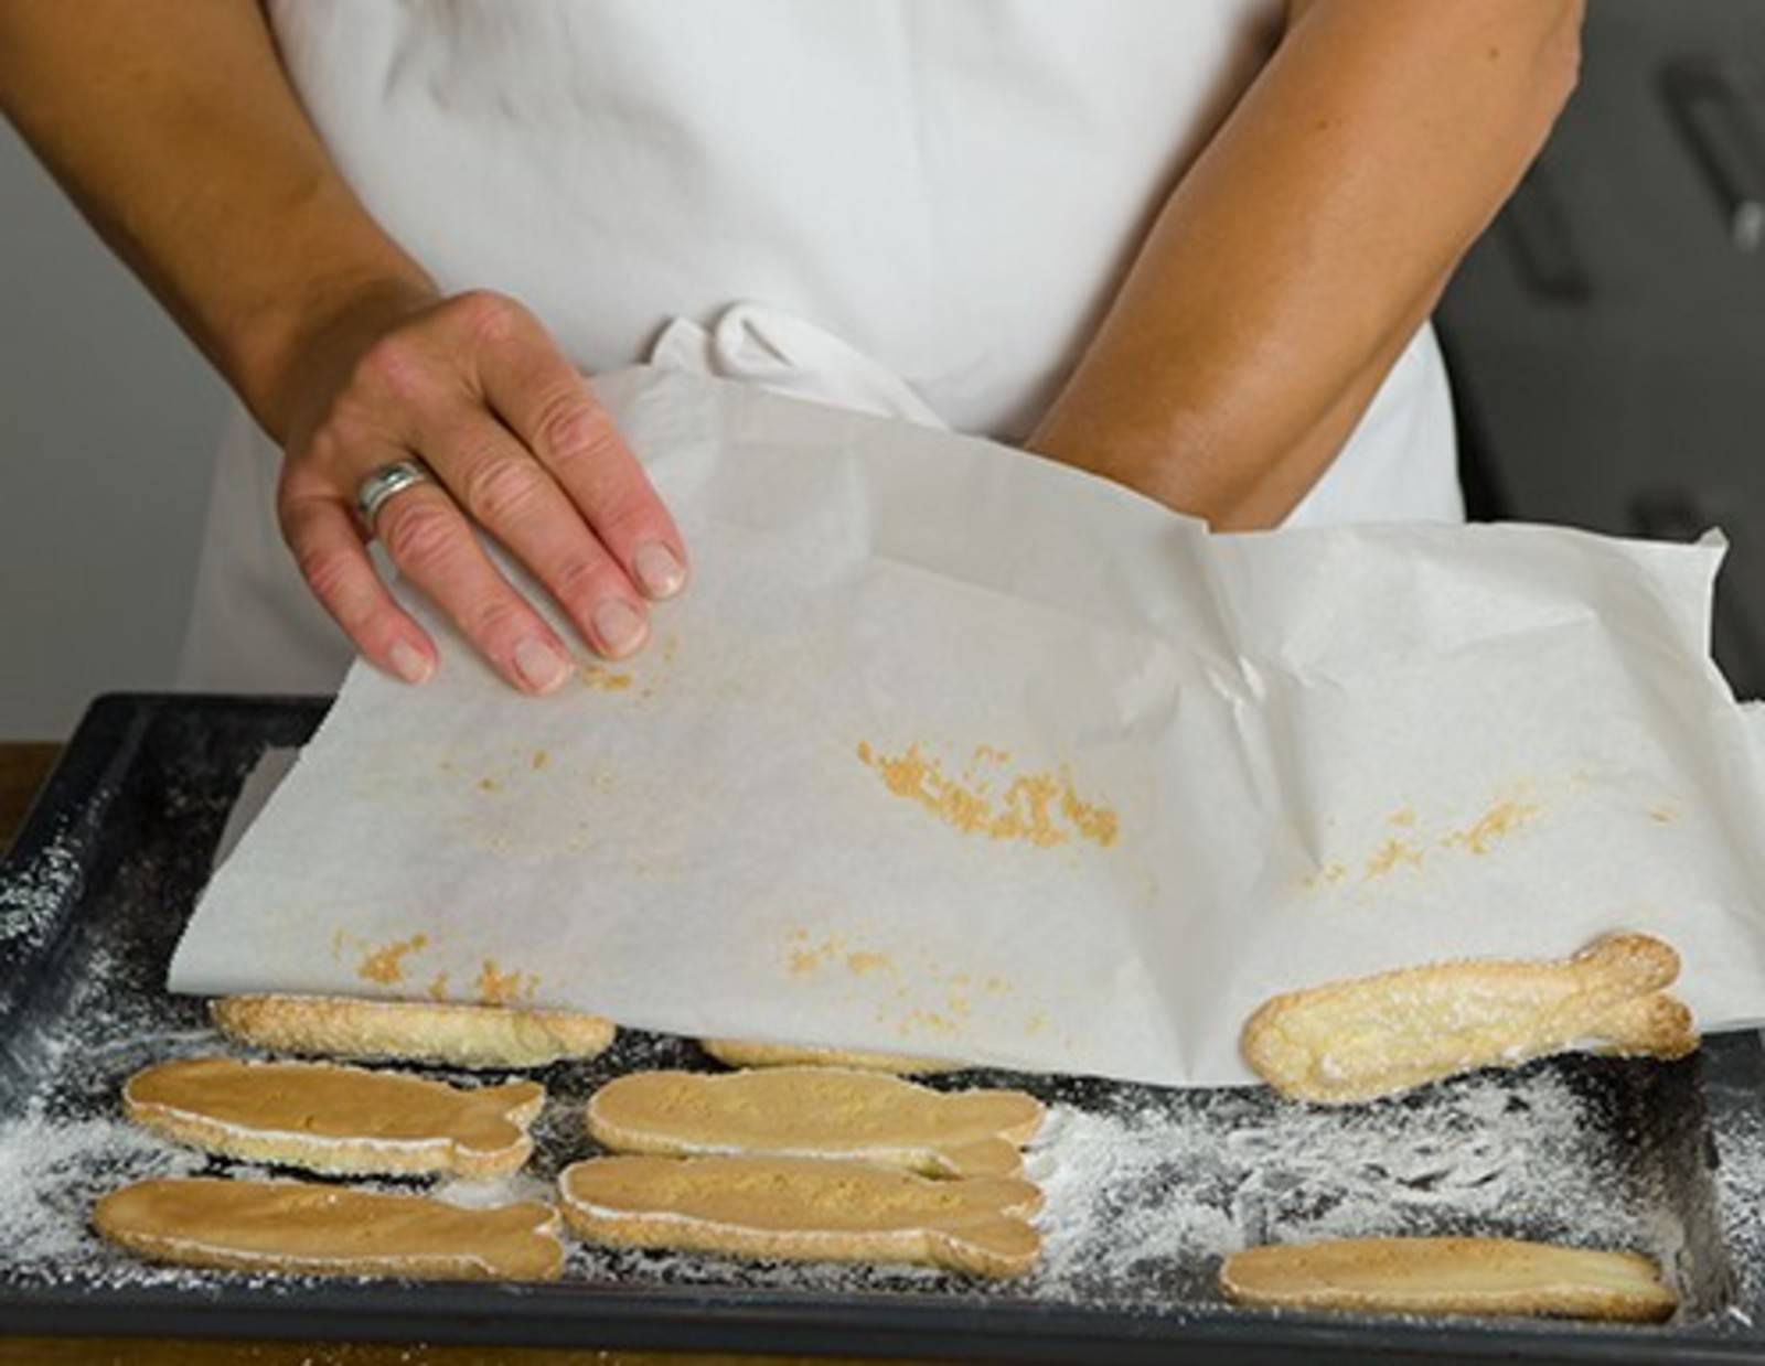
{"label": "brown fish-shaped cookie, upper of the two flat-side-up at left", "polygon": [[533,1151],[538,1082],[461,1091],[332,1062],[199,1057],[138,1071],[129,1117],[155,1133],[247,1161],[360,1175],[507,1175]]}

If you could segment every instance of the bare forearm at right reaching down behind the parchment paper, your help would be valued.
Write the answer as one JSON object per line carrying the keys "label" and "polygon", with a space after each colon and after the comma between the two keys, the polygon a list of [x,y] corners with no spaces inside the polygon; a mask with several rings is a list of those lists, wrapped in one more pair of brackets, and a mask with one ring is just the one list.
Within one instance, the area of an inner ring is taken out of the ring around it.
{"label": "bare forearm at right reaching down behind the parchment paper", "polygon": [[1031,447],[1280,522],[1537,154],[1578,32],[1578,0],[1296,4]]}

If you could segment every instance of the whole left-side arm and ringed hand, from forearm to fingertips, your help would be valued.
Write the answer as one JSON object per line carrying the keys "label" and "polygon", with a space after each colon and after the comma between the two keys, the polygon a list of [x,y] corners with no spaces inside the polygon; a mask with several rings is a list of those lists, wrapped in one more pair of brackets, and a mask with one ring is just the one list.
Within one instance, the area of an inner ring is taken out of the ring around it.
{"label": "whole left-side arm and ringed hand, from forearm to fingertips", "polygon": [[[570,649],[498,574],[503,542],[604,655],[687,579],[680,531],[575,369],[519,304],[441,298],[337,175],[254,0],[0,0],[0,108],[288,452],[282,535],[357,648],[413,683],[434,642],[365,542],[510,683]],[[367,528],[362,480],[434,484]]]}

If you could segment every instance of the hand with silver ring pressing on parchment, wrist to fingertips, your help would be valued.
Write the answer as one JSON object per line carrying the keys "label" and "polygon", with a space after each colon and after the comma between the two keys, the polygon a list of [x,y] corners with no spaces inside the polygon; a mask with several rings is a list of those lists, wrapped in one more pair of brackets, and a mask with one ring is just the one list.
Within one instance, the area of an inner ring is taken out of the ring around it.
{"label": "hand with silver ring pressing on parchment, wrist to fingertips", "polygon": [[[348,311],[304,351],[288,402],[277,510],[300,572],[364,657],[409,683],[434,642],[374,572],[378,537],[522,692],[570,676],[570,648],[510,586],[489,531],[551,591],[598,653],[630,655],[646,598],[687,582],[680,531],[582,376],[521,304],[409,289]],[[362,480],[420,457],[434,473],[387,499],[369,528]]]}

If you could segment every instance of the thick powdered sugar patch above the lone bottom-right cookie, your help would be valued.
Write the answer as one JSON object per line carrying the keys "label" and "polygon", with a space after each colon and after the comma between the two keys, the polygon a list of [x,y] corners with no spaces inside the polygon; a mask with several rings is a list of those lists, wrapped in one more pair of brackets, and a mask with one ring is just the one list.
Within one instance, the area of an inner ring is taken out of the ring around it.
{"label": "thick powdered sugar patch above the lone bottom-right cookie", "polygon": [[1551,1073],[1356,1110],[1239,1092],[1059,1107],[1029,1165],[1048,1200],[1038,1290],[1151,1299],[1246,1246],[1401,1234],[1553,1237],[1671,1265],[1684,1234],[1664,1191],[1636,1190],[1592,1128]]}

